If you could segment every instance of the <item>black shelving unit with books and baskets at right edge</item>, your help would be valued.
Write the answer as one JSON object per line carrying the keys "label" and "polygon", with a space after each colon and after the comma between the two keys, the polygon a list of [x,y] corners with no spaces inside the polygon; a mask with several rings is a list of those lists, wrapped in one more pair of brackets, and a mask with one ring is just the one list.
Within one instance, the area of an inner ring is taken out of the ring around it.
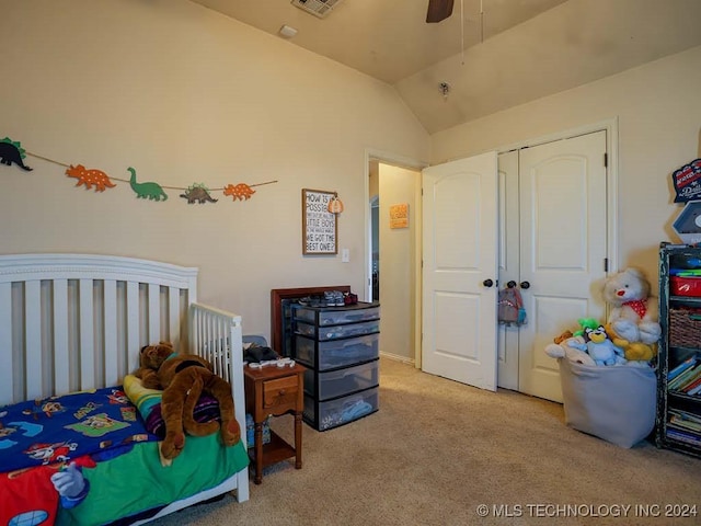
{"label": "black shelving unit with books and baskets at right edge", "polygon": [[701,373],[701,276],[678,276],[699,263],[701,248],[660,244],[656,443],[701,457],[701,391],[693,390]]}

